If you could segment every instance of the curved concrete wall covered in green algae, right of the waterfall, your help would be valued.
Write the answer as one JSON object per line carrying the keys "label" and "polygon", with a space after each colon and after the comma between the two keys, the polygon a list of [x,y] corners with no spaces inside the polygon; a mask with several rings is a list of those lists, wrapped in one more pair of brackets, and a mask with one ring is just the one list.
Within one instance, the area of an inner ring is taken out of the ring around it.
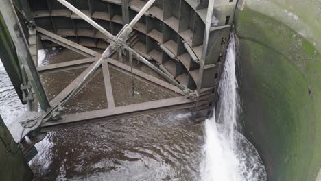
{"label": "curved concrete wall covered in green algae, right of the waterfall", "polygon": [[243,0],[235,12],[243,134],[268,180],[321,167],[321,1]]}

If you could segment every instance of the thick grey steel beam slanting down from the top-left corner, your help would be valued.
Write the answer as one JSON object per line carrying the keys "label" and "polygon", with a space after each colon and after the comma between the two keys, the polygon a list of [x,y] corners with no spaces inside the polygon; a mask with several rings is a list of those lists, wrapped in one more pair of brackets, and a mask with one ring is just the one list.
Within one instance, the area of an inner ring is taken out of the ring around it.
{"label": "thick grey steel beam slanting down from the top-left corner", "polygon": [[45,89],[43,88],[43,84],[41,84],[38,71],[34,65],[34,60],[29,52],[27,40],[23,34],[19,19],[16,16],[12,1],[1,0],[0,2],[0,11],[5,23],[7,24],[8,30],[16,47],[16,51],[18,52],[17,56],[23,64],[23,68],[25,69],[29,82],[32,84],[32,88],[34,88],[36,92],[36,97],[41,108],[43,110],[48,110],[51,106],[45,93]]}

